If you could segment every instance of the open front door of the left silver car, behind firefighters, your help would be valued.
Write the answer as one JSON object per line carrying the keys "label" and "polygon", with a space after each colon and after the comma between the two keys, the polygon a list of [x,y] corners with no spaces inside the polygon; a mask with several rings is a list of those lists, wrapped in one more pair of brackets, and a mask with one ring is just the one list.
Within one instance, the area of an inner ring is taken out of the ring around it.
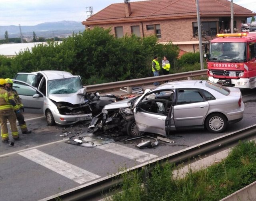
{"label": "open front door of the left silver car, behind firefighters", "polygon": [[43,114],[44,95],[28,83],[12,80],[13,89],[15,89],[24,105],[26,113]]}

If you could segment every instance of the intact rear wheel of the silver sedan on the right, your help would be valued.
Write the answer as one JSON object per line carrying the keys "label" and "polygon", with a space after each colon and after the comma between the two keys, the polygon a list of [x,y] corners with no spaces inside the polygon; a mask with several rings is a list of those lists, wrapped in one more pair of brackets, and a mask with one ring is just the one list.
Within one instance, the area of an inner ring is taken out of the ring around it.
{"label": "intact rear wheel of the silver sedan on the right", "polygon": [[212,133],[221,133],[227,128],[227,120],[223,114],[210,114],[205,120],[207,130]]}

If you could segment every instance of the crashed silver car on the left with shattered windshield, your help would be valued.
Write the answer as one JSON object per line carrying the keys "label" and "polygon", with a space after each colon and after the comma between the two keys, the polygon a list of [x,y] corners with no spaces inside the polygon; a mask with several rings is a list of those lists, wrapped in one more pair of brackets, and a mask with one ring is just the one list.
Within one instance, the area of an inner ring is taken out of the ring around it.
{"label": "crashed silver car on the left with shattered windshield", "polygon": [[49,125],[92,120],[96,109],[92,100],[100,99],[99,95],[88,97],[80,76],[65,71],[18,73],[13,82],[25,112],[44,114]]}

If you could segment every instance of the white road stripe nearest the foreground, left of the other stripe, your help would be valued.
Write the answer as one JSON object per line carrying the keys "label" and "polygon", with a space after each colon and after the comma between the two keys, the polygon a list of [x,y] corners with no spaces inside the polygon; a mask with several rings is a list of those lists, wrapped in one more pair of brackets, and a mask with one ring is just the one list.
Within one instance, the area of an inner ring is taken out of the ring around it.
{"label": "white road stripe nearest the foreground, left of the other stripe", "polygon": [[50,156],[49,154],[45,154],[37,149],[20,152],[18,154],[80,184],[100,177],[99,175]]}

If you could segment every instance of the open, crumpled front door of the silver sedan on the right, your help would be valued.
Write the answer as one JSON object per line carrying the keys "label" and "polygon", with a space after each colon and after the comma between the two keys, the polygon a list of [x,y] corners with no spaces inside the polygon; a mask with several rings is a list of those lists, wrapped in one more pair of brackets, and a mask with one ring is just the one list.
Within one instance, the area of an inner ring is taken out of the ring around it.
{"label": "open, crumpled front door of the silver sedan on the right", "polygon": [[134,118],[138,130],[166,136],[166,122],[170,126],[170,121],[166,119],[170,113],[170,108],[167,106],[169,104],[171,107],[172,100],[170,100],[170,91],[157,92],[157,94],[145,96],[145,99],[141,100],[134,108]]}

